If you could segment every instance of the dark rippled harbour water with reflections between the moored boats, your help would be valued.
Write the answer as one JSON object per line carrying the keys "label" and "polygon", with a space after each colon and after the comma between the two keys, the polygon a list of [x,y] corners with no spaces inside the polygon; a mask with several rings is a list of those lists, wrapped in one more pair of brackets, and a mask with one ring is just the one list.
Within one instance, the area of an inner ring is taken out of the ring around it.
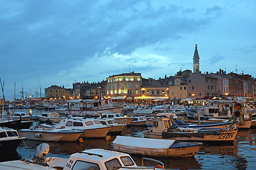
{"label": "dark rippled harbour water with reflections between the moored boats", "polygon": [[[43,111],[32,110],[33,114]],[[45,111],[44,111],[45,112]],[[143,137],[145,128],[127,128],[122,135]],[[48,157],[68,158],[70,154],[91,148],[112,148],[111,141],[105,139],[84,139],[84,142],[47,142],[50,145]],[[192,158],[164,158],[154,157],[164,162],[167,169],[256,169],[256,129],[238,131],[233,144],[206,145],[201,147],[196,157]],[[0,162],[21,158],[32,158],[40,141],[24,140],[15,153],[1,153]],[[137,164],[141,164],[142,157],[132,155]]]}

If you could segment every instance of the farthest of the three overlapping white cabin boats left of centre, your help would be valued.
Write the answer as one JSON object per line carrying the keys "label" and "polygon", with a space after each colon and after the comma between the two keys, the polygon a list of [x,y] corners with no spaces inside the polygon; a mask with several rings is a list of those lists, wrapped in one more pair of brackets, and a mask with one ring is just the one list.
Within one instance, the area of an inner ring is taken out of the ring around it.
{"label": "farthest of the three overlapping white cabin boats left of centre", "polygon": [[113,118],[119,124],[129,125],[134,118],[124,116],[122,113],[102,113],[99,118]]}

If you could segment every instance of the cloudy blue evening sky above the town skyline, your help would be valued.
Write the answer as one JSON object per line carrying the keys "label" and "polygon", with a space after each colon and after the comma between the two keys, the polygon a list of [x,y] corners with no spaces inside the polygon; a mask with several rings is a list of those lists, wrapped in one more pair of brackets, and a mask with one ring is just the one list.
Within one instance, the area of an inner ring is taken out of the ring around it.
{"label": "cloudy blue evening sky above the town skyline", "polygon": [[[0,77],[7,99],[51,85],[139,72],[256,75],[256,1],[0,0]],[[15,84],[15,85],[14,85]],[[14,93],[15,91],[15,93]],[[38,93],[36,94],[36,91]],[[0,93],[2,97],[2,93]]]}

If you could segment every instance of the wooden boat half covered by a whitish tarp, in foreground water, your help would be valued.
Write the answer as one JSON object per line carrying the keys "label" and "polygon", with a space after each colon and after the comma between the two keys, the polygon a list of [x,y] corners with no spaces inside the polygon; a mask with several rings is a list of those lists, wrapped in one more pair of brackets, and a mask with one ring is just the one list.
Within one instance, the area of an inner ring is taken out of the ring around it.
{"label": "wooden boat half covered by a whitish tarp, in foreground water", "polygon": [[112,144],[114,149],[120,152],[152,157],[195,157],[202,145],[199,142],[178,142],[128,136],[117,136]]}

